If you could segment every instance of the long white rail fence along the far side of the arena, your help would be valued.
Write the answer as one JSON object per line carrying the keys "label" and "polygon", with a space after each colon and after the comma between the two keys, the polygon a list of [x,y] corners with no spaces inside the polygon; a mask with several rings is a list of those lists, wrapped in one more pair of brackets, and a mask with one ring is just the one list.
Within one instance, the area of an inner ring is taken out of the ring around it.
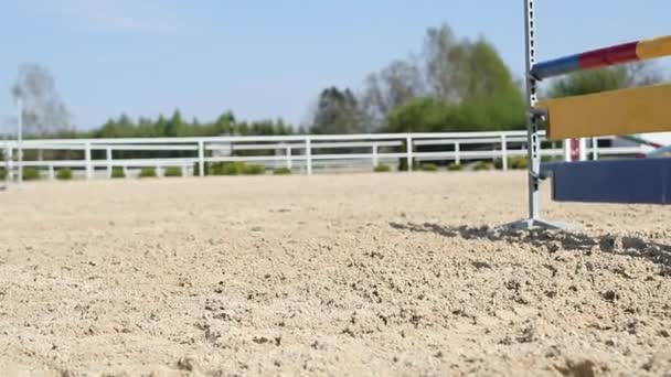
{"label": "long white rail fence along the far side of the arena", "polygon": [[[604,138],[611,139],[611,138]],[[643,153],[642,147],[598,148],[592,140],[587,153],[593,158]],[[561,143],[542,150],[545,157],[563,157]],[[31,153],[34,159],[19,163],[17,151]],[[38,168],[53,179],[58,168],[71,168],[87,179],[111,175],[114,168],[124,169],[126,176],[137,174],[141,168],[156,168],[158,175],[166,168],[180,168],[183,175],[205,175],[211,162],[244,161],[263,164],[267,169],[288,168],[312,174],[313,171],[337,169],[371,170],[380,163],[407,165],[423,161],[452,161],[462,163],[476,160],[501,159],[508,169],[508,158],[526,155],[526,132],[459,132],[459,133],[374,133],[337,136],[258,136],[213,138],[146,138],[146,139],[62,139],[6,141],[4,155],[10,172],[19,165]],[[79,159],[44,160],[44,151],[70,151]],[[75,152],[78,151],[78,152]],[[124,151],[159,153],[171,151],[188,154],[180,158],[119,158]],[[245,155],[254,153],[254,155]],[[95,154],[95,157],[94,157]]]}

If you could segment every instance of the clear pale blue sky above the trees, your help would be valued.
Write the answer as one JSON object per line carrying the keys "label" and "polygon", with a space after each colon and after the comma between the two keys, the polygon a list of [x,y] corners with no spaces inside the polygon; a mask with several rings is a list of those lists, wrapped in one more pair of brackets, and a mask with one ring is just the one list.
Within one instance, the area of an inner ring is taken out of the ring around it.
{"label": "clear pale blue sky above the trees", "polygon": [[[81,129],[121,111],[308,119],[320,89],[419,52],[428,26],[523,67],[521,0],[21,0],[0,6],[0,117],[22,62],[49,66]],[[539,0],[539,54],[671,34],[669,0]],[[665,66],[667,64],[664,64]]]}

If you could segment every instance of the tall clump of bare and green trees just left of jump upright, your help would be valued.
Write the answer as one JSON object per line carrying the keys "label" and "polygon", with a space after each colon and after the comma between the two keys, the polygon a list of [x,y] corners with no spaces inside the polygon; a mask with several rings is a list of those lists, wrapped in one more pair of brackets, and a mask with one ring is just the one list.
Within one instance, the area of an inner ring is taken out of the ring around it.
{"label": "tall clump of bare and green trees just left of jump upright", "polygon": [[376,129],[477,131],[524,127],[525,104],[494,46],[429,28],[417,58],[396,61],[368,77],[362,104]]}

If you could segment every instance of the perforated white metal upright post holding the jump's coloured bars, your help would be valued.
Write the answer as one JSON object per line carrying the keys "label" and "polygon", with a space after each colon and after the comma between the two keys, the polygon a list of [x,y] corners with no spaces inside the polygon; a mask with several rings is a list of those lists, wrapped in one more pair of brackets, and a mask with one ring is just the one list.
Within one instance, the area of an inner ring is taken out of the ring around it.
{"label": "perforated white metal upright post holding the jump's coloured bars", "polygon": [[524,29],[525,29],[525,73],[526,73],[526,141],[529,152],[529,217],[531,220],[540,218],[541,195],[541,139],[536,117],[532,116],[533,107],[536,105],[536,79],[531,75],[535,64],[535,8],[534,0],[524,0]]}

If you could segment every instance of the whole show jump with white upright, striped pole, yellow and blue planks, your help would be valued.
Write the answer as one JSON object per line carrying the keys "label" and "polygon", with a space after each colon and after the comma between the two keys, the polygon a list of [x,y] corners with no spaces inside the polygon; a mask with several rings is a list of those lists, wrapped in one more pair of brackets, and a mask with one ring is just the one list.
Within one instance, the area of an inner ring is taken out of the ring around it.
{"label": "whole show jump with white upright, striped pole, yellow and blue planks", "polygon": [[671,131],[671,85],[537,99],[537,83],[578,71],[671,55],[671,36],[619,44],[536,63],[535,0],[524,1],[529,218],[513,228],[567,228],[540,214],[540,184],[552,179],[560,202],[671,204],[671,159],[541,163],[541,134],[548,140]]}

